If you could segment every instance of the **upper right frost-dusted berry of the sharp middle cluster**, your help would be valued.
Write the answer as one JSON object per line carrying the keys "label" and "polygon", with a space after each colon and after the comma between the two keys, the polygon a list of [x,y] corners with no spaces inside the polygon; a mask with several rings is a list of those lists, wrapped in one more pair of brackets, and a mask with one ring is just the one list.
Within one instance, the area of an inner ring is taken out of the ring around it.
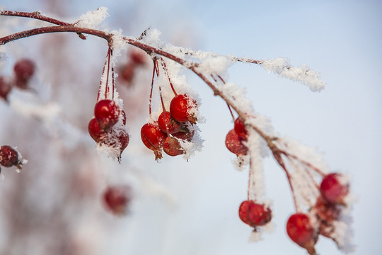
{"label": "upper right frost-dusted berry of the sharp middle cluster", "polygon": [[197,108],[196,101],[186,94],[175,96],[170,103],[171,116],[180,123],[187,121],[192,124],[196,123],[195,115],[192,113],[194,108]]}

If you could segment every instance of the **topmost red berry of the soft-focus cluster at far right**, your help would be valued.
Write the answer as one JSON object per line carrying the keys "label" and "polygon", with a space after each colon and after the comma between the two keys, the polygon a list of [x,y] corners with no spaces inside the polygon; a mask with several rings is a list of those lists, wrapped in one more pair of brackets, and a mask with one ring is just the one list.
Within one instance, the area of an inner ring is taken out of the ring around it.
{"label": "topmost red berry of the soft-focus cluster at far right", "polygon": [[349,193],[349,184],[342,183],[341,179],[341,174],[332,173],[326,175],[321,182],[321,196],[323,196],[329,203],[344,203],[344,198]]}

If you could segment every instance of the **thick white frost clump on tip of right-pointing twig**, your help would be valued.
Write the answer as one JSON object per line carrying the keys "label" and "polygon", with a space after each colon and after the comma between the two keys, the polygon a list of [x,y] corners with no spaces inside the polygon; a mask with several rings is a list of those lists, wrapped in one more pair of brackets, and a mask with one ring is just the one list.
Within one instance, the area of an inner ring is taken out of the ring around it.
{"label": "thick white frost clump on tip of right-pointing twig", "polygon": [[320,74],[310,69],[305,64],[300,67],[293,67],[286,58],[279,57],[275,60],[262,60],[262,67],[267,72],[279,74],[280,77],[299,81],[311,89],[311,91],[321,91],[325,89],[325,82],[321,80]]}

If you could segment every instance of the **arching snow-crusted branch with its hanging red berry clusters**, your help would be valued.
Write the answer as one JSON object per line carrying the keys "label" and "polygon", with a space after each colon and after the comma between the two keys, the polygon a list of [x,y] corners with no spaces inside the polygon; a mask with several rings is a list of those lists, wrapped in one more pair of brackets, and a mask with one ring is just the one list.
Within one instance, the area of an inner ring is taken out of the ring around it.
{"label": "arching snow-crusted branch with its hanging red berry clusters", "polygon": [[[320,156],[317,156],[316,151],[277,135],[267,118],[255,113],[252,103],[245,96],[244,89],[224,79],[228,67],[236,62],[244,62],[258,64],[267,72],[305,84],[311,91],[321,91],[324,89],[325,83],[320,79],[318,72],[304,64],[300,67],[294,67],[289,63],[289,60],[284,58],[253,60],[248,57],[224,56],[212,52],[175,47],[161,41],[158,30],[145,30],[138,38],[124,36],[120,32],[100,30],[98,25],[103,21],[103,18],[108,16],[106,8],[99,8],[97,11],[86,13],[75,23],[59,21],[44,16],[40,12],[0,11],[0,15],[35,18],[54,25],[6,35],[0,38],[0,45],[33,35],[64,32],[76,33],[83,40],[86,39],[85,35],[93,35],[108,42],[108,54],[100,80],[95,117],[89,122],[88,132],[93,140],[98,143],[98,147],[108,151],[111,148],[113,157],[118,159],[129,143],[129,134],[126,128],[126,113],[123,111],[122,100],[115,93],[113,52],[118,55],[126,45],[133,45],[144,50],[154,62],[149,96],[149,122],[141,128],[141,139],[146,147],[154,151],[156,159],[161,159],[162,149],[170,156],[183,154],[184,158],[188,159],[192,154],[192,149],[201,147],[192,144],[192,141],[195,141],[193,140],[194,134],[198,131],[195,124],[200,117],[197,109],[198,102],[192,96],[178,94],[175,91],[175,89],[183,89],[180,87],[187,85],[186,82],[183,82],[183,77],[180,76],[178,69],[184,67],[194,72],[212,89],[214,96],[219,96],[226,102],[235,125],[238,122],[240,126],[238,131],[236,131],[235,126],[233,130],[228,132],[226,147],[238,156],[239,166],[248,162],[250,164],[248,196],[239,209],[241,220],[253,227],[254,232],[258,233],[272,218],[272,210],[264,198],[262,186],[261,158],[265,154],[263,151],[263,145],[265,145],[266,151],[272,152],[275,161],[287,175],[294,200],[296,213],[291,215],[288,220],[287,232],[289,237],[305,248],[309,254],[316,254],[314,245],[319,234],[329,237],[339,246],[343,246],[342,241],[339,240],[342,240],[344,235],[339,232],[340,227],[336,227],[336,225],[337,222],[340,222],[340,214],[345,210],[344,208],[347,208],[347,200],[345,200],[349,189],[347,180],[337,173],[327,174],[328,169]],[[0,52],[0,62],[3,59],[4,55]],[[159,72],[163,72],[165,75],[159,75]],[[170,84],[170,89],[158,84],[161,98],[160,111],[162,112],[158,120],[154,120],[152,116],[154,114],[151,111],[154,78],[161,80],[158,83],[167,83],[168,80]],[[162,82],[165,80],[166,82]],[[170,91],[171,96],[164,93],[165,89]],[[166,97],[172,98],[171,103]],[[178,100],[178,113],[180,112],[176,118],[174,113],[169,113],[166,110],[168,106],[165,106],[167,103],[170,104],[169,108],[171,108],[175,98]],[[183,113],[185,113],[184,116]],[[236,120],[235,115],[238,115]],[[164,129],[161,128],[160,120],[164,123],[162,123]],[[3,158],[5,159],[5,157]],[[15,162],[13,165],[18,163]],[[336,185],[336,191],[340,190],[340,193],[337,192],[333,195],[330,190],[332,187],[325,186],[325,179],[328,178],[331,178],[330,185]],[[300,226],[296,223],[301,221],[306,222],[306,224]],[[298,227],[303,229],[297,229]],[[301,235],[305,236],[301,239]]]}

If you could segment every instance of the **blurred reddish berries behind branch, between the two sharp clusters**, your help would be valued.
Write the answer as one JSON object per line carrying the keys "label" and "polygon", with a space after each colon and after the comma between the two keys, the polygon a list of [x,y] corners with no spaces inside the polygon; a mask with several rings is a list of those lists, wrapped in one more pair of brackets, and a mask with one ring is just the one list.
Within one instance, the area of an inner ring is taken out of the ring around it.
{"label": "blurred reddish berries behind branch, between the two sharp clusters", "polygon": [[135,77],[135,73],[139,67],[146,64],[146,55],[141,50],[130,50],[127,53],[127,63],[120,67],[119,74],[122,81],[129,86]]}

